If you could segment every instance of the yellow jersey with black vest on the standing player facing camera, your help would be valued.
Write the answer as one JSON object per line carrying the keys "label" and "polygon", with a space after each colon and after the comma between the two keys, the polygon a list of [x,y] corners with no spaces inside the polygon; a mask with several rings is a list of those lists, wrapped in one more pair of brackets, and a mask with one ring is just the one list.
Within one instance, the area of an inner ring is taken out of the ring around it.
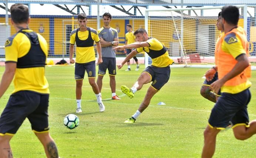
{"label": "yellow jersey with black vest on the standing player facing camera", "polygon": [[70,44],[77,45],[76,63],[88,63],[95,61],[94,41],[100,42],[98,33],[93,28],[87,27],[86,31],[73,30],[70,34]]}

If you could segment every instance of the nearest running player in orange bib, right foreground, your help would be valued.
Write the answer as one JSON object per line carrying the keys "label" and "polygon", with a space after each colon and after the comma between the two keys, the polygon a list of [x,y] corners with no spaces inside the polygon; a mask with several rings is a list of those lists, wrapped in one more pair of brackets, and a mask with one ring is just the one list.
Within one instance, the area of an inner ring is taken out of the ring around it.
{"label": "nearest running player in orange bib, right foreground", "polygon": [[233,133],[238,140],[246,140],[256,133],[256,120],[249,123],[247,105],[251,94],[249,45],[246,32],[238,27],[239,9],[235,6],[222,8],[222,24],[225,32],[217,56],[217,66],[206,72],[206,79],[213,78],[218,70],[219,80],[210,87],[221,96],[210,114],[209,123],[204,131],[203,158],[212,157],[215,152],[216,136],[225,129],[231,120]]}

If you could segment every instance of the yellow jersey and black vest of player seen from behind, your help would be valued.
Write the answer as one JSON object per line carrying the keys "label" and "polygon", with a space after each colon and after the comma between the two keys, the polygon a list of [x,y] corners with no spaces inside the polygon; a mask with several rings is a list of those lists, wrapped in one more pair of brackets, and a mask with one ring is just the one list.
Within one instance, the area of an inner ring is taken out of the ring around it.
{"label": "yellow jersey and black vest of player seen from behind", "polygon": [[17,63],[13,93],[20,90],[50,93],[44,76],[48,46],[40,34],[28,29],[20,30],[7,39],[5,53],[6,63]]}

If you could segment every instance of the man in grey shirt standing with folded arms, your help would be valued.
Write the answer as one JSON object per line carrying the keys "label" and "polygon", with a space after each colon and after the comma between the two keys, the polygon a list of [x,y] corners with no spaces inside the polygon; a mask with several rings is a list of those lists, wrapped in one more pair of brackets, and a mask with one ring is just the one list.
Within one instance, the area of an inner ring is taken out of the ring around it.
{"label": "man in grey shirt standing with folded arms", "polygon": [[116,71],[116,60],[115,60],[115,50],[112,50],[112,46],[118,46],[118,32],[116,29],[110,27],[110,22],[112,16],[110,13],[104,13],[102,15],[104,27],[98,30],[98,35],[100,37],[100,43],[102,48],[102,60],[103,62],[99,64],[98,79],[97,84],[101,92],[102,79],[106,74],[108,69],[108,74],[110,76],[110,88],[112,92],[112,99],[120,100],[120,98],[115,93],[115,75]]}

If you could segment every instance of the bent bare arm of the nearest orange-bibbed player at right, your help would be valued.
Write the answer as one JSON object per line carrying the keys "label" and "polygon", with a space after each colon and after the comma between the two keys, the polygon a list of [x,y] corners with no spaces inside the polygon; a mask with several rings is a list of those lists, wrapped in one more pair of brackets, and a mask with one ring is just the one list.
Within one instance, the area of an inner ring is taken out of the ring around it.
{"label": "bent bare arm of the nearest orange-bibbed player at right", "polygon": [[236,63],[234,68],[227,75],[225,75],[222,79],[216,80],[210,85],[211,89],[214,90],[215,93],[219,92],[220,87],[222,87],[225,82],[239,75],[245,70],[245,68],[249,66],[249,59],[247,58],[246,54],[238,56],[236,60],[238,63]]}

